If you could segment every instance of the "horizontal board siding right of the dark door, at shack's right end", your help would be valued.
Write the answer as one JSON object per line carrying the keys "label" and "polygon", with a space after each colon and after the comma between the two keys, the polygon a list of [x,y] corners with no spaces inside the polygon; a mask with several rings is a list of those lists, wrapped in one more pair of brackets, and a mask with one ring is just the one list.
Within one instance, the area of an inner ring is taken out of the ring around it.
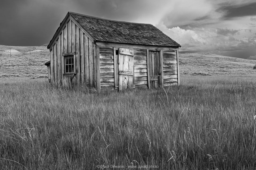
{"label": "horizontal board siding right of the dark door, at shack's right end", "polygon": [[164,87],[178,85],[177,50],[163,50]]}

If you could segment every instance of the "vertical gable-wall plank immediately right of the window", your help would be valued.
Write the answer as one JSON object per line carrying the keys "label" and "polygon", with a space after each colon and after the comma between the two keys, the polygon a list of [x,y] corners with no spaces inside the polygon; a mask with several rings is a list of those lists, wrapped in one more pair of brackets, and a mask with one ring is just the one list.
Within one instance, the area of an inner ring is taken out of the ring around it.
{"label": "vertical gable-wall plank immediately right of the window", "polygon": [[80,83],[80,33],[79,33],[79,28],[76,27],[76,81]]}

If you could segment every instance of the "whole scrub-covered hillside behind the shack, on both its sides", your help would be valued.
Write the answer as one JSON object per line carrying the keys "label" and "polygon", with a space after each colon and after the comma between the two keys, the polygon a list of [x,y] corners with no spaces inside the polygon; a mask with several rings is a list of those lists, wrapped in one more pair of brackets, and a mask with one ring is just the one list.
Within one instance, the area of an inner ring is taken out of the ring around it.
{"label": "whole scrub-covered hillside behind the shack, on both its sides", "polygon": [[[0,78],[47,77],[44,63],[50,60],[50,52],[46,46],[30,47],[29,53],[29,47],[0,45]],[[185,53],[179,55],[179,63],[180,75],[256,75],[256,70],[253,70],[255,60]]]}

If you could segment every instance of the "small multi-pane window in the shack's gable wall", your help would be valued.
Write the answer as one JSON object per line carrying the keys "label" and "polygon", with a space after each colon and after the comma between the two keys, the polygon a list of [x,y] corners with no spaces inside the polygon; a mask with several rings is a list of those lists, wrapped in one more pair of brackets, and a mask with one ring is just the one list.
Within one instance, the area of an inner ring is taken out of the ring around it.
{"label": "small multi-pane window in the shack's gable wall", "polygon": [[75,53],[62,54],[64,59],[64,74],[76,73]]}

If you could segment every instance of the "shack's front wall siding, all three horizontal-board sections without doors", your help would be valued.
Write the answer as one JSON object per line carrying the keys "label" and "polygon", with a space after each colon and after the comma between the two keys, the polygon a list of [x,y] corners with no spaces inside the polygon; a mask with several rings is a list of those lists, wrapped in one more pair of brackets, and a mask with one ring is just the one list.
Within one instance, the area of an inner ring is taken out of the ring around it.
{"label": "shack's front wall siding, all three horizontal-board sections without doors", "polygon": [[[111,43],[108,43],[111,45]],[[122,46],[125,48],[125,46]],[[131,48],[130,46],[127,46]],[[137,46],[138,47],[138,46]],[[100,58],[100,87],[101,89],[116,89],[118,85],[118,55],[115,54],[115,50],[118,47],[100,46],[99,58]],[[135,89],[148,88],[149,87],[149,49],[134,48],[134,60],[133,60],[133,73],[134,73],[134,85]],[[178,49],[158,49],[161,52],[161,61],[163,63],[163,83],[164,86],[178,85],[179,81],[179,65],[178,65]],[[116,58],[116,61],[114,61]]]}

